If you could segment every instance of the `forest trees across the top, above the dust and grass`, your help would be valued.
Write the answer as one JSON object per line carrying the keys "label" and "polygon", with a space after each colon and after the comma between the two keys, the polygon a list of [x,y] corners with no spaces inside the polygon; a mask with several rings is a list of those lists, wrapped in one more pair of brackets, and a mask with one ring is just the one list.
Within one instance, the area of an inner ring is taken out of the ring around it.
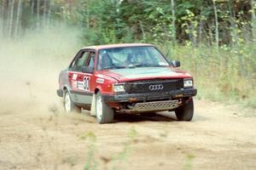
{"label": "forest trees across the top, above the dust and grass", "polygon": [[241,30],[256,37],[255,0],[0,0],[0,5],[5,37],[61,22],[80,27],[94,44],[207,42],[218,49],[235,46]]}

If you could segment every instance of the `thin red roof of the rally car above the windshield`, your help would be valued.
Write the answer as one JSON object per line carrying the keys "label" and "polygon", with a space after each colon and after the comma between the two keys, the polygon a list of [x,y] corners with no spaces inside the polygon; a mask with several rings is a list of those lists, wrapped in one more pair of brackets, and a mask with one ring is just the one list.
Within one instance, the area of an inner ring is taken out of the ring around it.
{"label": "thin red roof of the rally car above the windshield", "polygon": [[141,47],[141,46],[154,46],[150,43],[116,43],[116,44],[105,44],[105,45],[96,45],[88,46],[82,49],[105,49],[105,48],[124,48],[124,47]]}

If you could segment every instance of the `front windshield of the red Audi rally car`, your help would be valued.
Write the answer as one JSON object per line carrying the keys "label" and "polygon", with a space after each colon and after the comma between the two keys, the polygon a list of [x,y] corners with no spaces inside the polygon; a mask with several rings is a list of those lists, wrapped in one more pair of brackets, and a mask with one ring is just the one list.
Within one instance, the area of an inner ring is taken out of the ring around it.
{"label": "front windshield of the red Audi rally car", "polygon": [[97,71],[136,67],[159,67],[169,63],[153,46],[101,49]]}

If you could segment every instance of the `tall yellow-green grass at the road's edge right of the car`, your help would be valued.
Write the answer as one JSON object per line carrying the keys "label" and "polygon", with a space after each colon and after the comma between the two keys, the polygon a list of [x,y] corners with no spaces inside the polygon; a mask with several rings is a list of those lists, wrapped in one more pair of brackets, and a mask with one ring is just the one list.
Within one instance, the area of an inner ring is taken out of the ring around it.
{"label": "tall yellow-green grass at the road's edge right of the car", "polygon": [[[167,50],[167,49],[166,49]],[[256,108],[256,44],[238,48],[207,46],[172,48],[172,59],[181,61],[181,69],[194,76],[197,99],[240,103]]]}

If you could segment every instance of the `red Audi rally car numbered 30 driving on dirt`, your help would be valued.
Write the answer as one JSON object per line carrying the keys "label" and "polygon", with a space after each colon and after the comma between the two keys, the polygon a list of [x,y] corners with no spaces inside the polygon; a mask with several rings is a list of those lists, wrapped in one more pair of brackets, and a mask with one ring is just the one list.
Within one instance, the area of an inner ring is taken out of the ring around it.
{"label": "red Audi rally car numbered 30 driving on dirt", "polygon": [[152,44],[90,46],[79,50],[61,71],[57,94],[67,112],[90,110],[99,123],[117,112],[175,111],[177,120],[194,114],[193,77],[178,70]]}

